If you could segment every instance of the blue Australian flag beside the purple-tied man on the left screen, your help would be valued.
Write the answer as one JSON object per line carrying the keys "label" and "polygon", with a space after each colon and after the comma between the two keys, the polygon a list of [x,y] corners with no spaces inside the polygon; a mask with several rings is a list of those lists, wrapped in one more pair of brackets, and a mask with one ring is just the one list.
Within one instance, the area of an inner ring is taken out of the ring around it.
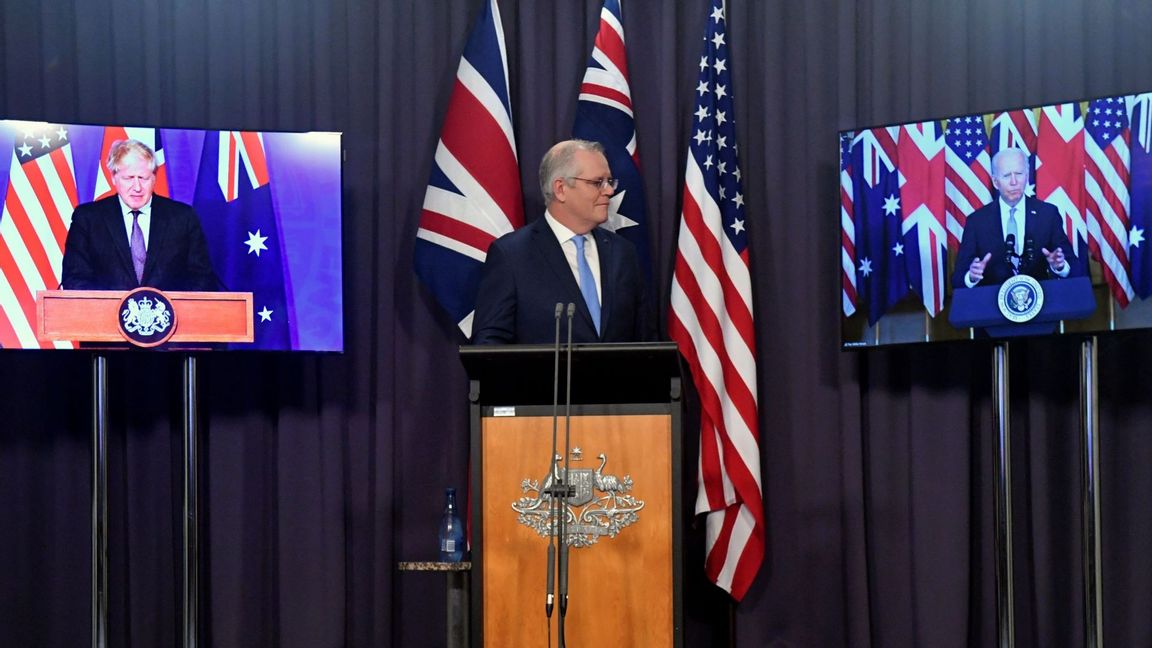
{"label": "blue Australian flag beside the purple-tied man on the left screen", "polygon": [[262,134],[209,131],[192,204],[226,289],[252,293],[256,340],[243,347],[290,349],[293,314],[268,179]]}

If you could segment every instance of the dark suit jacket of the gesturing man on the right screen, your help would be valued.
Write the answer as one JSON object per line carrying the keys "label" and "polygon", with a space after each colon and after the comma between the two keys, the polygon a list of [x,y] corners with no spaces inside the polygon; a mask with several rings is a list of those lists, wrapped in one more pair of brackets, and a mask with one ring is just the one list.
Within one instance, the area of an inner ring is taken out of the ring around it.
{"label": "dark suit jacket of the gesturing man on the right screen", "polygon": [[[1020,218],[1017,216],[1017,218]],[[1021,266],[1021,272],[1026,272],[1040,279],[1055,279],[1048,270],[1048,262],[1044,257],[1041,248],[1052,251],[1060,248],[1064,251],[1064,261],[1068,263],[1068,277],[1078,277],[1083,273],[1083,264],[1073,253],[1073,244],[1064,234],[1063,221],[1060,212],[1052,203],[1025,197],[1024,198],[1024,240],[1031,240],[1036,250],[1034,263],[1030,268]],[[984,268],[984,279],[978,286],[996,286],[1003,284],[1013,276],[1011,263],[1008,261],[1005,244],[1003,225],[1000,224],[1000,199],[995,199],[983,208],[973,211],[968,217],[964,225],[964,235],[960,241],[960,251],[956,253],[956,268],[952,273],[952,285],[954,288],[963,288],[964,274],[973,258],[984,258],[984,255],[992,253],[992,258]]]}

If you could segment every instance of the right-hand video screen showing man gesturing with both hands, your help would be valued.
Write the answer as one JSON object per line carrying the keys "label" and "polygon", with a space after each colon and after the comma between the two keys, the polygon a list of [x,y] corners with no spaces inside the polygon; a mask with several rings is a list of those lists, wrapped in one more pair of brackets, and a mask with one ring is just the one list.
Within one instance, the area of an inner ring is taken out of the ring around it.
{"label": "right-hand video screen showing man gesturing with both hands", "polygon": [[842,348],[1152,326],[1152,92],[840,133]]}

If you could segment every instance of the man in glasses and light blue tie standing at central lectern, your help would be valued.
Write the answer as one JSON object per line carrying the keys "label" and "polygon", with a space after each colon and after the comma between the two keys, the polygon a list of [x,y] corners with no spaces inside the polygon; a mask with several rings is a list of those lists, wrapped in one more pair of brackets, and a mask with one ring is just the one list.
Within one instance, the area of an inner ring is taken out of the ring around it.
{"label": "man in glasses and light blue tie standing at central lectern", "polygon": [[636,249],[600,227],[615,189],[600,144],[568,140],[545,153],[540,191],[547,211],[488,248],[473,344],[552,344],[558,303],[575,304],[574,342],[654,338]]}

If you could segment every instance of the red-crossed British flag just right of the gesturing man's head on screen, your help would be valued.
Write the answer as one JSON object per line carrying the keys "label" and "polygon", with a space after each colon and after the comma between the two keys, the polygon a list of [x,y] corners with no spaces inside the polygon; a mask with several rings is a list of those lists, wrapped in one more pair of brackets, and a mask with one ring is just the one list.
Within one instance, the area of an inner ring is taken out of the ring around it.
{"label": "red-crossed British flag just right of the gesturing man's head on screen", "polygon": [[[1036,140],[1036,196],[1060,210],[1073,253],[1083,261],[1084,119],[1079,104],[1045,106]],[[1064,250],[1067,253],[1067,250]]]}

